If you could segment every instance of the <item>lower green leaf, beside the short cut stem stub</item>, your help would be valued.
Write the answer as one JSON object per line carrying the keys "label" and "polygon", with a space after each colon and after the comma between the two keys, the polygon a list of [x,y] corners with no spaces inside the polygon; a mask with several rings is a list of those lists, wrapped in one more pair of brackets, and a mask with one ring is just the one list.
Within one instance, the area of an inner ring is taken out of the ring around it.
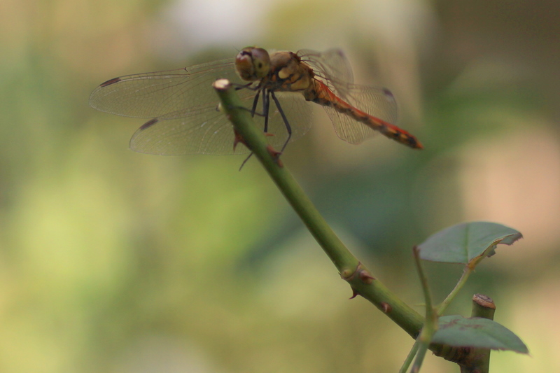
{"label": "lower green leaf, beside the short cut stem stub", "polygon": [[514,333],[487,318],[442,316],[433,343],[456,347],[477,347],[528,353],[527,346]]}

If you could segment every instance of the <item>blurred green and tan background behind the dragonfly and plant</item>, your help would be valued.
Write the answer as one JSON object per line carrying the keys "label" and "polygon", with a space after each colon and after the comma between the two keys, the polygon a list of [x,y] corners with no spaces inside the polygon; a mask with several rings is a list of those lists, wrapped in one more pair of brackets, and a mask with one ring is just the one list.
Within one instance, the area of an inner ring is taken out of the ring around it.
{"label": "blurred green and tan background behind the dragonfly and plant", "polygon": [[[500,247],[449,309],[496,301],[560,370],[560,3],[421,0],[3,0],[0,372],[396,372],[412,339],[349,287],[260,165],[127,149],[143,121],[99,113],[109,78],[247,45],[343,48],[425,146],[339,141],[326,116],[290,168],[337,234],[409,304],[411,248],[491,220]],[[428,265],[436,302],[461,267]],[[416,307],[422,312],[421,307]],[[458,372],[428,356],[426,372]]]}

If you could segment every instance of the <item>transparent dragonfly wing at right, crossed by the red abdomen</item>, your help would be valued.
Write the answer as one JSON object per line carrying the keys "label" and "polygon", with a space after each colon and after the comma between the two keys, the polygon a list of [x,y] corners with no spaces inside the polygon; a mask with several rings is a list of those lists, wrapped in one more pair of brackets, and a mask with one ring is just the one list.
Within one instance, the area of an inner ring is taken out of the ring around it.
{"label": "transparent dragonfly wing at right, crossed by the red abdomen", "polygon": [[[346,103],[369,115],[394,124],[397,120],[397,104],[393,94],[383,87],[348,85]],[[358,144],[377,133],[374,129],[358,122],[346,113],[339,113],[331,106],[324,106],[340,139]]]}

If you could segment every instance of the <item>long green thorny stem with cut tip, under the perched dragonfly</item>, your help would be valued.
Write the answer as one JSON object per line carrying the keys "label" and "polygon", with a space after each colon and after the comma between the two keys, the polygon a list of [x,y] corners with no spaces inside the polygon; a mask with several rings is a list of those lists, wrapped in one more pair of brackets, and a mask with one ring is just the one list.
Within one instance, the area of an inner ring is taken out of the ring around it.
{"label": "long green thorny stem with cut tip, under the perched dragonfly", "polygon": [[422,328],[423,317],[391,293],[381,281],[375,279],[342,244],[295,178],[286,167],[283,167],[279,155],[267,145],[264,134],[255,126],[251,114],[242,107],[239,97],[228,80],[216,80],[214,87],[238,137],[260,160],[272,181],[276,183],[309,232],[337,267],[342,279],[349,282],[354,294],[365,297],[384,311],[400,328],[416,338]]}

